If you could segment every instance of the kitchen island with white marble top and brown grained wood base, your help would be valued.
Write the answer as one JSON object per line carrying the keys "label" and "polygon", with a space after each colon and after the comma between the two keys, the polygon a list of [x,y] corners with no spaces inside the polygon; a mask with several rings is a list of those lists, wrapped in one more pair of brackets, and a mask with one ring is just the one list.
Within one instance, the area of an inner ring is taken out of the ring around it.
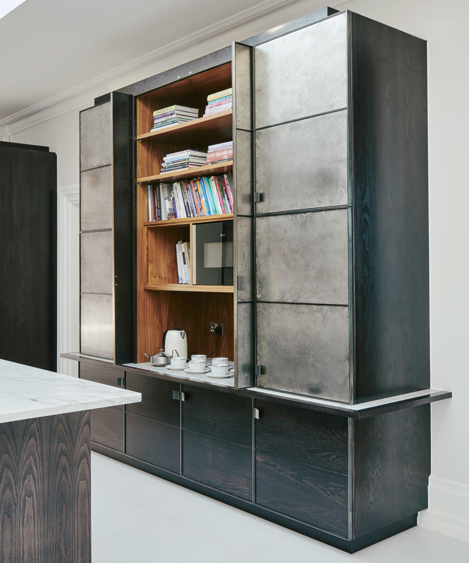
{"label": "kitchen island with white marble top and brown grained wood base", "polygon": [[0,360],[0,563],[91,561],[90,409],[140,400]]}

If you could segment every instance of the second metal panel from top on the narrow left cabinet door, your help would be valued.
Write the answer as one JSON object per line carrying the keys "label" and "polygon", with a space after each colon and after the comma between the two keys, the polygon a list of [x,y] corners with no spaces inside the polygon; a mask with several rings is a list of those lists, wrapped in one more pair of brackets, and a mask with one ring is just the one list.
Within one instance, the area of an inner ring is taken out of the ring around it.
{"label": "second metal panel from top on the narrow left cabinet door", "polygon": [[81,230],[113,226],[111,167],[95,168],[80,175]]}

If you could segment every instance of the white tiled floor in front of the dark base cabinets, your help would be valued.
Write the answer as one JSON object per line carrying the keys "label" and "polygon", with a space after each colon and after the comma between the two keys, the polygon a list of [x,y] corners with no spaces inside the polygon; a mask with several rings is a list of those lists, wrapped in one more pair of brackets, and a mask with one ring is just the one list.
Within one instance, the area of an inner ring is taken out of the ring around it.
{"label": "white tiled floor in front of the dark base cabinets", "polygon": [[93,563],[467,563],[469,542],[413,528],[349,555],[93,453]]}

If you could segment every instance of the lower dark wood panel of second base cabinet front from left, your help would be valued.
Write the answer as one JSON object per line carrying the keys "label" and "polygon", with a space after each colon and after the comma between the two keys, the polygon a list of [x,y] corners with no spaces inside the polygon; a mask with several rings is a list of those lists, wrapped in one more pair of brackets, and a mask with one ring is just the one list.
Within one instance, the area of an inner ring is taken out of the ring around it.
{"label": "lower dark wood panel of second base cabinet front from left", "polygon": [[126,453],[179,474],[180,429],[132,413],[126,421]]}

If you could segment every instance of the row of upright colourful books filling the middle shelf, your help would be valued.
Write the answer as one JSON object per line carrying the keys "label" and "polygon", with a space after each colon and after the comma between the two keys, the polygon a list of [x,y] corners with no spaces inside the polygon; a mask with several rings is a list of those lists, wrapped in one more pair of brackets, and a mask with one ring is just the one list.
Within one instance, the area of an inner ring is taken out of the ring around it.
{"label": "row of upright colourful books filling the middle shelf", "polygon": [[233,175],[148,185],[148,220],[166,221],[233,213]]}

